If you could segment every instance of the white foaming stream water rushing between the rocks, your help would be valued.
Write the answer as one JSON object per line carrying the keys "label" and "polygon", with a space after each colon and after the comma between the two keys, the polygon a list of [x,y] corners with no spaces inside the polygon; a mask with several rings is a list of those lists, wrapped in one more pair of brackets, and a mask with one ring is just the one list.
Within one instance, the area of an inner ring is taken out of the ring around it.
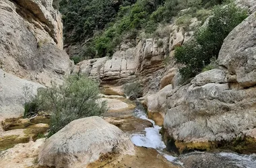
{"label": "white foaming stream water rushing between the rocks", "polygon": [[[156,149],[161,155],[163,155],[168,161],[173,163],[178,163],[179,165],[183,165],[181,161],[177,157],[173,157],[172,155],[168,155],[164,149],[166,145],[162,141],[162,136],[159,133],[161,127],[157,126],[153,120],[148,119],[146,112],[141,110],[140,108],[136,108],[134,110],[134,115],[137,118],[141,118],[143,120],[148,120],[152,122],[154,127],[145,128],[146,134],[131,134],[131,141],[133,144],[137,146],[145,146],[148,148]],[[218,155],[220,157],[226,158],[229,161],[232,161],[235,165],[241,168],[256,168],[256,154],[253,155],[238,155],[236,153],[216,153],[214,155]]]}

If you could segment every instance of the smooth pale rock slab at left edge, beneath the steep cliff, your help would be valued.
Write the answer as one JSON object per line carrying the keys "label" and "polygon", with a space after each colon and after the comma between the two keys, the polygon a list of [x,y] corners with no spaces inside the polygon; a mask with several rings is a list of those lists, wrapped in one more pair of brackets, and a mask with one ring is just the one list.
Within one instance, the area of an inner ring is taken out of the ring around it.
{"label": "smooth pale rock slab at left edge, beneath the steep cliff", "polygon": [[24,113],[24,103],[34,96],[40,87],[44,86],[20,79],[0,69],[0,121],[21,116]]}

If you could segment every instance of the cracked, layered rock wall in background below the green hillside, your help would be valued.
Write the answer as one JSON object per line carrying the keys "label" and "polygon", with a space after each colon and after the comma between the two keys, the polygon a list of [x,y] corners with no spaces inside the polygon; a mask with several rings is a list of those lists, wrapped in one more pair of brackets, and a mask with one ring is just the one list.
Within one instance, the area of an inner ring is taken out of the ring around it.
{"label": "cracked, layered rock wall in background below the green hillside", "polygon": [[[162,41],[161,44],[158,43]],[[160,45],[160,46],[158,46]],[[127,83],[135,75],[147,75],[163,68],[164,55],[168,39],[147,39],[136,47],[121,45],[112,58],[95,58],[84,60],[75,65],[73,73],[100,79],[102,83]]]}

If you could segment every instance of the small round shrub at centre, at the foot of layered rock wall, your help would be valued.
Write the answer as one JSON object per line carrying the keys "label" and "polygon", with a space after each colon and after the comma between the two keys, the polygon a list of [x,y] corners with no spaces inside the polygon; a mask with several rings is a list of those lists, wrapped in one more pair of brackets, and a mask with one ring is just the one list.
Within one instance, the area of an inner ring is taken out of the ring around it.
{"label": "small round shrub at centre, at the foot of layered rock wall", "polygon": [[123,91],[127,99],[135,99],[142,95],[142,87],[139,83],[127,83],[123,86]]}

